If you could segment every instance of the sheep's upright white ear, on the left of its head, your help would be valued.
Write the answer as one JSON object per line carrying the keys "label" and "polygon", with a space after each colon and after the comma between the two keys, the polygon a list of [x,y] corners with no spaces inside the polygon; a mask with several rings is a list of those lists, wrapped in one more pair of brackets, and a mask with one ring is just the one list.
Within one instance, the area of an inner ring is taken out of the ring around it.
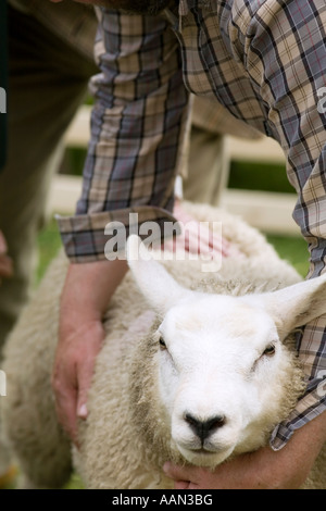
{"label": "sheep's upright white ear, on the left of its head", "polygon": [[142,295],[156,312],[165,313],[190,292],[153,260],[139,236],[131,235],[127,239],[127,261]]}

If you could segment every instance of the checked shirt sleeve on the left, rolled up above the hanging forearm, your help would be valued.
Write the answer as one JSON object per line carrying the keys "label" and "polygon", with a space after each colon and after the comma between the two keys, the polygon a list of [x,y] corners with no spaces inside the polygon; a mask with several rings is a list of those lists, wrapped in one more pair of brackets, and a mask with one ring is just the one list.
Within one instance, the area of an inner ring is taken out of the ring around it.
{"label": "checked shirt sleeve on the left, rolled up above the hanging forearm", "polygon": [[83,192],[76,214],[58,219],[72,262],[105,258],[109,223],[128,234],[135,214],[138,225],[175,221],[174,180],[187,125],[189,98],[167,22],[100,8],[98,18],[100,73],[90,80],[96,104]]}

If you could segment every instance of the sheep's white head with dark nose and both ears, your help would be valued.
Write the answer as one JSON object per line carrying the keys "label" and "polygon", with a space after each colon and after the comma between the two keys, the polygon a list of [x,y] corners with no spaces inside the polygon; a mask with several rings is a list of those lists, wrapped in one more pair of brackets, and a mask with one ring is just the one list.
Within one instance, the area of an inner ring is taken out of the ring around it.
{"label": "sheep's white head with dark nose and both ears", "polygon": [[302,391],[284,340],[326,312],[326,278],[265,294],[205,294],[181,287],[148,256],[141,259],[140,247],[145,254],[131,236],[128,262],[163,317],[154,340],[173,446],[186,461],[205,466],[258,448]]}

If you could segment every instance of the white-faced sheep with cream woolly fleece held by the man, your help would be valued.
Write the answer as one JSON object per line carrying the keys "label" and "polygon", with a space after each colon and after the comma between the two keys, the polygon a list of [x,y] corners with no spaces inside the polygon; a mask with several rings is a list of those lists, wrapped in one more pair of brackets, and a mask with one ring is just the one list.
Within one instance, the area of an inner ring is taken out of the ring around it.
{"label": "white-faced sheep with cream woolly fleece held by the man", "polygon": [[[202,273],[200,260],[145,261],[129,238],[130,271],[104,317],[78,450],[58,424],[50,385],[63,253],[23,312],[5,347],[2,421],[27,487],[62,487],[75,470],[86,488],[173,488],[166,460],[213,469],[253,451],[304,391],[292,332],[326,312],[325,276],[301,282],[239,217],[184,208],[221,221],[237,250]],[[326,487],[325,449],[304,487]]]}

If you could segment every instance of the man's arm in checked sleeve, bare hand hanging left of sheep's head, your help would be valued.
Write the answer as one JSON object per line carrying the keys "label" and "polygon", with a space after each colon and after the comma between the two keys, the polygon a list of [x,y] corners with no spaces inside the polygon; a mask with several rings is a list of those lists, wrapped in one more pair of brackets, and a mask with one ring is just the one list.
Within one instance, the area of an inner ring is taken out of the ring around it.
{"label": "man's arm in checked sleeve, bare hand hanging left of sheep's head", "polygon": [[100,73],[76,215],[59,220],[71,260],[61,300],[53,367],[57,412],[77,443],[77,415],[87,415],[87,390],[103,341],[102,316],[126,262],[106,261],[108,223],[128,235],[129,213],[174,220],[174,178],[188,95],[178,45],[165,20],[98,9]]}

